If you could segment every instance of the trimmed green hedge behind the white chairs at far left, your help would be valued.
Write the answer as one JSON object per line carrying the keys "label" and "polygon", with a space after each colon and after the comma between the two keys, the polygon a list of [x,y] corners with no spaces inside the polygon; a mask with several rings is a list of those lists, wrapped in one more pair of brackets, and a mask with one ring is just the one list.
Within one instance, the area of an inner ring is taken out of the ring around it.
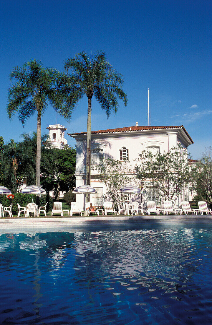
{"label": "trimmed green hedge behind the white chairs at far left", "polygon": [[[36,195],[35,194],[23,194],[23,193],[16,193],[14,194],[14,199],[12,200],[13,202],[13,207],[12,207],[12,213],[13,215],[18,214],[18,206],[17,202],[20,204],[20,206],[27,206],[28,203],[35,202]],[[49,201],[49,202],[48,202]],[[47,212],[51,209],[53,209],[53,200],[51,197],[48,197],[47,195],[42,195],[40,197],[40,206],[44,206],[47,204]],[[10,200],[7,199],[6,195],[0,195],[0,203],[5,207],[10,205]],[[6,214],[8,215],[8,214]]]}

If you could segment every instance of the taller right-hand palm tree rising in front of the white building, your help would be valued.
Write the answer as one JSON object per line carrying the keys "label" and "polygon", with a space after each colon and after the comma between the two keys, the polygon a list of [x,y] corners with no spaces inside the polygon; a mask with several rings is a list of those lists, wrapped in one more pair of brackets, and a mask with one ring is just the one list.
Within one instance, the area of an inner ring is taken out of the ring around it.
{"label": "taller right-hand palm tree rising in front of the white building", "polygon": [[74,58],[65,61],[64,68],[72,69],[69,75],[69,87],[65,89],[67,95],[67,110],[70,115],[84,95],[88,98],[87,118],[87,150],[86,150],[86,184],[91,184],[91,101],[94,95],[107,118],[111,111],[115,114],[118,109],[117,97],[127,105],[127,95],[120,88],[123,79],[119,72],[113,70],[106,59],[105,52],[98,52],[89,57],[85,52],[78,53]]}

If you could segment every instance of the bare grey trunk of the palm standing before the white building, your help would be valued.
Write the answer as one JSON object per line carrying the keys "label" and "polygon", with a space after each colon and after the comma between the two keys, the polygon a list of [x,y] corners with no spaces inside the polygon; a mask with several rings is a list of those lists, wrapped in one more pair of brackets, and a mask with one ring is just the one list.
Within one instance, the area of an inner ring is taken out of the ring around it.
{"label": "bare grey trunk of the palm standing before the white building", "polygon": [[[91,98],[88,98],[88,120],[87,120],[87,150],[86,150],[86,185],[91,185]],[[87,202],[90,194],[87,194]]]}

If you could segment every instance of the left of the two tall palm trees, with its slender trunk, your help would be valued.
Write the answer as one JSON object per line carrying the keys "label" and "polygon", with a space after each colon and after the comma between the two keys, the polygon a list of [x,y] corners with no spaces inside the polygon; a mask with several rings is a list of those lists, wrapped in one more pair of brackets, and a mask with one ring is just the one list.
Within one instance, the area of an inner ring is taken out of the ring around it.
{"label": "left of the two tall palm trees, with its slender trunk", "polygon": [[69,119],[63,107],[61,92],[58,91],[63,75],[55,69],[43,68],[40,61],[31,59],[23,67],[16,67],[11,72],[10,80],[13,78],[16,82],[8,90],[9,118],[18,112],[19,120],[24,126],[37,111],[36,185],[40,186],[41,115],[50,103],[55,111]]}

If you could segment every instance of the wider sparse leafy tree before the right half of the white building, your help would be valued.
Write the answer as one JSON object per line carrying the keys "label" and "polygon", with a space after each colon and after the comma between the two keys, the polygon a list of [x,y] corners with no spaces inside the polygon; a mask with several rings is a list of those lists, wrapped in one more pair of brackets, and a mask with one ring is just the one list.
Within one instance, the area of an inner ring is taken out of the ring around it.
{"label": "wider sparse leafy tree before the right half of the white building", "polygon": [[139,161],[135,167],[137,177],[147,186],[150,182],[152,187],[159,188],[164,200],[175,203],[182,189],[191,183],[192,171],[181,146],[156,154],[143,150]]}

